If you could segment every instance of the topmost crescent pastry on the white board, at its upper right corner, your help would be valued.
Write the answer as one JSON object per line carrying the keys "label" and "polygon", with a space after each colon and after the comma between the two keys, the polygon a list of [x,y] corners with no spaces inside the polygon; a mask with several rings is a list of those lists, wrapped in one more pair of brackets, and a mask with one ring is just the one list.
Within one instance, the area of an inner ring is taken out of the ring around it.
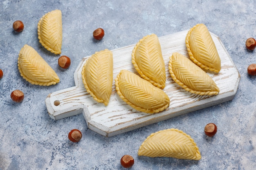
{"label": "topmost crescent pastry on the white board, at its upper right corner", "polygon": [[220,56],[204,24],[197,24],[186,35],[186,47],[191,60],[206,70],[219,73]]}

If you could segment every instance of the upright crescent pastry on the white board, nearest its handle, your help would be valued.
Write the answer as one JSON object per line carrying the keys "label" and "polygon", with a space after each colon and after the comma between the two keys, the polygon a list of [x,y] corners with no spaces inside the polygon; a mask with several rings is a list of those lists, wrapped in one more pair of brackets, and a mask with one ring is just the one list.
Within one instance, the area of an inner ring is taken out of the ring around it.
{"label": "upright crescent pastry on the white board, nearest its handle", "polygon": [[82,79],[93,99],[107,106],[113,82],[112,51],[105,49],[89,57],[82,68]]}

